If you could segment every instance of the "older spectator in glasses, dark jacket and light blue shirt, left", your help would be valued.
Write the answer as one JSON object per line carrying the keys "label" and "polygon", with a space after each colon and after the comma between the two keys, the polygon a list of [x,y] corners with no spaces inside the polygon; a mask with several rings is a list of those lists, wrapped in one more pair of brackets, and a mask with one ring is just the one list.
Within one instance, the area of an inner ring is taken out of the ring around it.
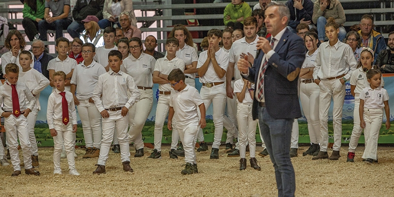
{"label": "older spectator in glasses, dark jacket and light blue shirt, left", "polygon": [[48,55],[45,52],[44,42],[42,40],[34,39],[33,44],[33,55],[34,55],[34,69],[42,73],[47,79],[49,79],[49,71],[47,70],[48,63],[53,59],[53,56]]}

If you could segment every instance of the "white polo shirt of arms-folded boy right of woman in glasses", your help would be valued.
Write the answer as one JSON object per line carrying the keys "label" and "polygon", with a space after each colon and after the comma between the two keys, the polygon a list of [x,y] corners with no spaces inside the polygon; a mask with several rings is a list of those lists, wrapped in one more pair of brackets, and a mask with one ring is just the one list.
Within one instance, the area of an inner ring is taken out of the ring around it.
{"label": "white polo shirt of arms-folded boy right of woman in glasses", "polygon": [[[183,70],[185,69],[185,62],[183,62],[183,60],[178,57],[175,57],[172,60],[168,60],[167,56],[165,56],[164,58],[159,58],[156,61],[154,71],[159,71],[162,74],[168,75],[175,68],[179,68],[183,72]],[[173,89],[171,88],[171,85],[165,83],[159,84],[159,90],[164,92],[171,92],[171,90]]]}

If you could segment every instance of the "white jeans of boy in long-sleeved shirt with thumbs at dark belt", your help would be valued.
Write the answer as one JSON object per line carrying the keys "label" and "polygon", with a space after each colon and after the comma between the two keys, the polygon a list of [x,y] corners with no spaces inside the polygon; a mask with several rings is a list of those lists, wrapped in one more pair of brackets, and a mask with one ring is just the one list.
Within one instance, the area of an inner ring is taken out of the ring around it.
{"label": "white jeans of boy in long-sleeved shirt with thumbs at dark belt", "polygon": [[130,162],[130,148],[129,139],[127,136],[127,129],[129,128],[129,113],[122,116],[122,110],[108,111],[109,117],[102,119],[102,139],[100,156],[97,164],[105,165],[108,159],[109,148],[114,137],[116,129],[116,138],[118,138],[120,145],[120,158],[122,162]]}

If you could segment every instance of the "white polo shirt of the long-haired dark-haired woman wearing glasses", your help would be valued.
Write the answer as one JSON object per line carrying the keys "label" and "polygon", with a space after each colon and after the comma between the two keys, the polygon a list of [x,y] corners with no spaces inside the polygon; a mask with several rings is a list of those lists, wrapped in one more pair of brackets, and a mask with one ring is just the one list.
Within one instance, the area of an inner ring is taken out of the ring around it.
{"label": "white polo shirt of the long-haired dark-haired woman wearing glasses", "polygon": [[121,70],[129,74],[137,86],[150,88],[153,87],[153,70],[156,60],[153,56],[141,53],[138,59],[129,55],[123,60]]}

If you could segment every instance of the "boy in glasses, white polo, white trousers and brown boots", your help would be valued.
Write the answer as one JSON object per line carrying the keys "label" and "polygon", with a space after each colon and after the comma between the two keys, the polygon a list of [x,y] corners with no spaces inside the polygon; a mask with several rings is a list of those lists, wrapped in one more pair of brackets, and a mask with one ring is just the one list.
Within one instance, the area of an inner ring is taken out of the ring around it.
{"label": "boy in glasses, white polo, white trousers and brown boots", "polygon": [[70,82],[86,145],[86,153],[82,158],[96,158],[100,154],[101,115],[92,94],[99,76],[105,73],[105,68],[93,60],[95,54],[94,44],[87,42],[82,45],[84,61],[74,68]]}

